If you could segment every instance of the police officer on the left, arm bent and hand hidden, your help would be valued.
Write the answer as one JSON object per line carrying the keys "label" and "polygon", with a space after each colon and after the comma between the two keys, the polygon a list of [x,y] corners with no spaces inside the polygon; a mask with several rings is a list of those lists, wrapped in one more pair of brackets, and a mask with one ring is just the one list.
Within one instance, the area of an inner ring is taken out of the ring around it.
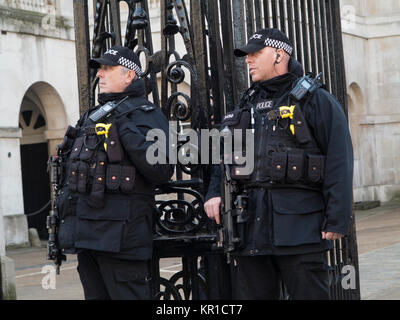
{"label": "police officer on the left, arm bent and hand hidden", "polygon": [[114,46],[89,65],[99,69],[99,105],[68,128],[58,149],[59,246],[78,254],[86,299],[150,299],[154,189],[173,167],[147,161],[146,134],[161,129],[168,137],[168,121],[144,98],[132,50]]}

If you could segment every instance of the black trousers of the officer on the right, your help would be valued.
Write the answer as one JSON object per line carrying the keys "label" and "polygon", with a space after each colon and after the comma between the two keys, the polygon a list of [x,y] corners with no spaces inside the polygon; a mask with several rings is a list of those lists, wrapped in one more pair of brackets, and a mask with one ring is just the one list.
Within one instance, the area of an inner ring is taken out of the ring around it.
{"label": "black trousers of the officer on the right", "polygon": [[[326,252],[287,256],[238,256],[231,262],[238,300],[329,300]],[[288,297],[287,297],[288,295]]]}

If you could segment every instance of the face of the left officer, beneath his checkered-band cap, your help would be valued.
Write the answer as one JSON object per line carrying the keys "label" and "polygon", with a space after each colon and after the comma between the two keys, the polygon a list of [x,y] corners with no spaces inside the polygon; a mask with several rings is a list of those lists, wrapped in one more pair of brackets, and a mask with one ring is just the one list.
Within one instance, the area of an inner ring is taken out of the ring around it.
{"label": "face of the left officer, beneath his checkered-band cap", "polygon": [[124,73],[121,66],[106,65],[101,65],[97,77],[100,93],[123,92],[133,79],[131,72]]}

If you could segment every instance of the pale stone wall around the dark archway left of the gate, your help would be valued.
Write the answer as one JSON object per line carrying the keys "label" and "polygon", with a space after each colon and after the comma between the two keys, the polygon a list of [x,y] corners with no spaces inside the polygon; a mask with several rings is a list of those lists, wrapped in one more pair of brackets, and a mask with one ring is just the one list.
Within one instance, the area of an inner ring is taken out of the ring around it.
{"label": "pale stone wall around the dark archway left of the gate", "polygon": [[[20,159],[19,116],[24,96],[35,92],[44,107],[49,150],[54,151],[67,125],[79,116],[72,17],[56,16],[56,7],[48,13],[40,6],[28,11],[19,4],[32,6],[41,2],[0,0],[0,215],[4,225],[1,238],[5,238],[0,242],[2,247],[29,243]],[[72,2],[70,5],[72,9]]]}

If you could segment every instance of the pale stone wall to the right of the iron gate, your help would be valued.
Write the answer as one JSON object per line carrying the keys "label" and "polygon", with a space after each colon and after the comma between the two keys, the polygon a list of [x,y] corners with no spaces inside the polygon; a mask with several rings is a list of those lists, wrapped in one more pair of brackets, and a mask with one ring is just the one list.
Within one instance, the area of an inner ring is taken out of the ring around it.
{"label": "pale stone wall to the right of the iron gate", "polygon": [[354,200],[400,196],[400,2],[341,0]]}

